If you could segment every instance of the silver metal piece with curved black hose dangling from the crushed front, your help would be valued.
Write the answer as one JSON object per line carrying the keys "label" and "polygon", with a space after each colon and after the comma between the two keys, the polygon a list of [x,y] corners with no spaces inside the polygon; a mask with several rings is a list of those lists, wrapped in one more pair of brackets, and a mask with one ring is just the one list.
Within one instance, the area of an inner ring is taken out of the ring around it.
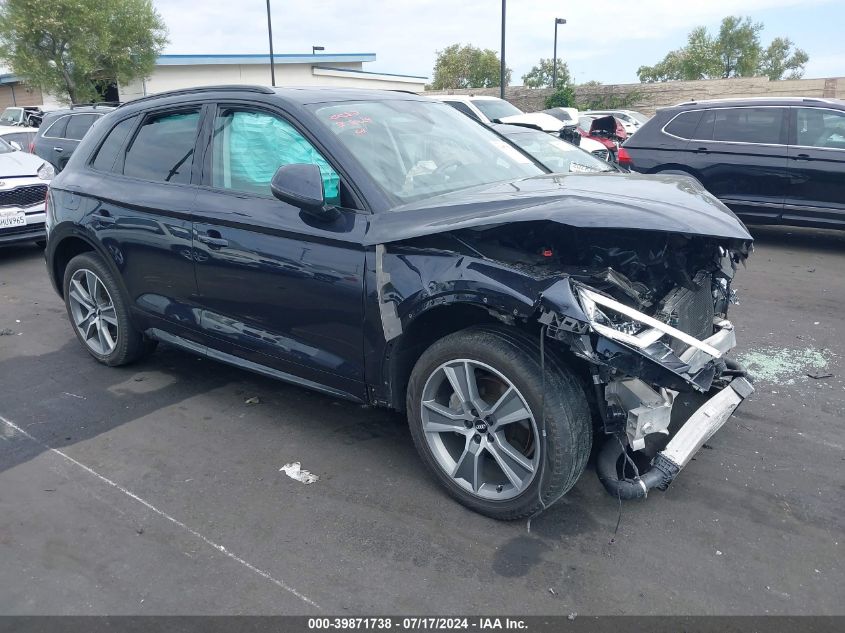
{"label": "silver metal piece with curved black hose dangling from the crushed front", "polygon": [[666,448],[652,460],[651,468],[633,479],[619,478],[617,465],[625,451],[624,443],[616,438],[608,438],[596,463],[599,479],[605,489],[621,499],[645,497],[652,488],[665,490],[693,455],[722,428],[739,404],[753,392],[754,387],[744,377],[731,380],[727,387],[690,416]]}

